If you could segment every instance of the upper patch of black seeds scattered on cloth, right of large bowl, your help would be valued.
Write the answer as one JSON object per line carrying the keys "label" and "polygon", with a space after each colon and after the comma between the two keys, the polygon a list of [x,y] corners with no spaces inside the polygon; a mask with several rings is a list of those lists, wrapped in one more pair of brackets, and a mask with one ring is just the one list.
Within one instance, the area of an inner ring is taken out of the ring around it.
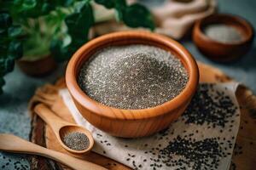
{"label": "upper patch of black seeds scattered on cloth, right of large bowl", "polygon": [[183,117],[186,123],[202,125],[206,122],[211,127],[225,127],[235,113],[236,107],[228,95],[209,88],[207,84],[201,84]]}

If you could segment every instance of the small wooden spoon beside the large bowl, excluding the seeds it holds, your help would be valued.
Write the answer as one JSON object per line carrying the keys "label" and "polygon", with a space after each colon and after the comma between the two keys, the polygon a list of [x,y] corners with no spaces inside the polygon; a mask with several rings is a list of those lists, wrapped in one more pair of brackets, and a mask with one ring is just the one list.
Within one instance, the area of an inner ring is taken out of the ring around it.
{"label": "small wooden spoon beside the large bowl, excluding the seeds it holds", "polygon": [[[55,133],[55,136],[59,140],[61,146],[65,148],[67,151],[72,152],[74,154],[84,154],[85,152],[88,152],[91,150],[94,144],[94,139],[90,131],[76,124],[63,121],[59,116],[56,116],[54,112],[50,111],[47,108],[47,106],[44,104],[36,105],[34,111],[38,114],[38,116],[40,116],[44,120],[44,122],[49,124],[49,127],[51,127],[51,129]],[[73,150],[67,147],[67,145],[63,143],[63,139],[65,135],[67,135],[67,133],[74,133],[74,132],[84,133],[88,137],[90,144],[87,149]]]}

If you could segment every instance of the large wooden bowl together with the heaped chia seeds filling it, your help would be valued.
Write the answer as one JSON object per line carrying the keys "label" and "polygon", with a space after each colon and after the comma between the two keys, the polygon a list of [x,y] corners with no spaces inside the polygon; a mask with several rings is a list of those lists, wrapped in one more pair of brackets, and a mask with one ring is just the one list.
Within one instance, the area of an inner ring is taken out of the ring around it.
{"label": "large wooden bowl together with the heaped chia seeds filling it", "polygon": [[[148,31],[96,37],[73,54],[66,71],[67,89],[80,114],[93,126],[122,138],[148,136],[170,126],[189,105],[198,82],[198,65],[189,51]],[[96,94],[98,99],[92,97]]]}

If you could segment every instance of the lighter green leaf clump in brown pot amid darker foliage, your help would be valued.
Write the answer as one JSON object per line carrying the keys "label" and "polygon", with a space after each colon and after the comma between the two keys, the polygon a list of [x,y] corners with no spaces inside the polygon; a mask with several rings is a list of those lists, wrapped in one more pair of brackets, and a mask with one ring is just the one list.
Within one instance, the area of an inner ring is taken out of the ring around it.
{"label": "lighter green leaf clump in brown pot amid darker foliage", "polygon": [[20,70],[30,76],[42,76],[53,71],[56,62],[50,52],[50,43],[55,31],[61,27],[61,20],[55,20],[55,13],[38,18],[25,18],[20,23],[23,32],[23,56],[17,60]]}

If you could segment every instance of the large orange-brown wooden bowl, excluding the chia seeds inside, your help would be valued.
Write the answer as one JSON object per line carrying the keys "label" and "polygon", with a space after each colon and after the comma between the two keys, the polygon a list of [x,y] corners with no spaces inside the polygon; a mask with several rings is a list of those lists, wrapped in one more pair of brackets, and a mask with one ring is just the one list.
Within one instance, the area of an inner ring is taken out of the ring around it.
{"label": "large orange-brown wooden bowl, excluding the chia seeds inside", "polygon": [[[189,74],[189,81],[183,92],[162,105],[142,110],[121,110],[109,107],[84,94],[77,82],[79,70],[84,61],[101,48],[126,44],[153,45],[171,51],[181,59]],[[189,105],[198,82],[199,70],[195,59],[181,44],[170,38],[144,31],[120,31],[87,42],[73,54],[66,72],[67,88],[82,116],[102,131],[125,138],[147,136],[168,127]]]}

